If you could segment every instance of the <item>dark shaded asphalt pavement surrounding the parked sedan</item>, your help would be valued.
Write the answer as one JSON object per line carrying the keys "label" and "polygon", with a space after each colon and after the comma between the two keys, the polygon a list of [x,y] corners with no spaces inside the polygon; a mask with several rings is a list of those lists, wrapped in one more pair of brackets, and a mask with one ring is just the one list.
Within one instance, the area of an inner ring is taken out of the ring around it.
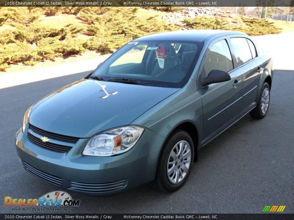
{"label": "dark shaded asphalt pavement surrounding the parked sedan", "polygon": [[[0,213],[12,213],[4,197],[39,198],[59,190],[25,171],[14,136],[25,111],[52,91],[87,72],[0,90]],[[70,193],[81,204],[73,213],[261,213],[285,205],[294,213],[294,70],[275,70],[270,107],[262,120],[245,116],[199,151],[186,184],[166,194],[143,185],[111,196]]]}

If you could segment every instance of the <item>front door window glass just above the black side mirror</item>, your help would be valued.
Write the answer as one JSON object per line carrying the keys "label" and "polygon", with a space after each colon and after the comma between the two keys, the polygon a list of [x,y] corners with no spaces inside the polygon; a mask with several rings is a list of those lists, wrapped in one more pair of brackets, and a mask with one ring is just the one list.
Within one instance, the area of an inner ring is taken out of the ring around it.
{"label": "front door window glass just above the black side mirror", "polygon": [[230,49],[226,40],[216,42],[210,49],[204,64],[206,75],[211,70],[228,72],[233,69]]}

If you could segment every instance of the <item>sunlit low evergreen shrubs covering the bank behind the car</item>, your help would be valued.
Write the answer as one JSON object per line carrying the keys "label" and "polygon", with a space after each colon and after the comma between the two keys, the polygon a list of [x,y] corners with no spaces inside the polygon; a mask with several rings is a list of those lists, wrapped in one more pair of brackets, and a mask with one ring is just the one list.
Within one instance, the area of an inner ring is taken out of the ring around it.
{"label": "sunlit low evergreen shrubs covering the bank behind the car", "polygon": [[[163,11],[177,11],[168,7]],[[151,33],[181,29],[167,24],[159,11],[131,7],[2,7],[0,71],[11,64],[34,65],[87,50],[112,53],[126,42]],[[147,16],[147,15],[151,16]],[[217,18],[186,19],[188,29],[240,30],[250,35],[278,33],[266,20],[242,18],[236,28]]]}

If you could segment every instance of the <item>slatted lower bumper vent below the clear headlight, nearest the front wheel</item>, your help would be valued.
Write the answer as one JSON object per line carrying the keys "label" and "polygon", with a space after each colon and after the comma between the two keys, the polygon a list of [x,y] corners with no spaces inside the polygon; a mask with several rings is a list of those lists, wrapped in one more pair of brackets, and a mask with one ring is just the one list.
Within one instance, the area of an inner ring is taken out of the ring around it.
{"label": "slatted lower bumper vent below the clear headlight, nearest the front wheel", "polygon": [[101,184],[71,182],[68,189],[84,193],[107,193],[125,188],[127,182],[127,180]]}

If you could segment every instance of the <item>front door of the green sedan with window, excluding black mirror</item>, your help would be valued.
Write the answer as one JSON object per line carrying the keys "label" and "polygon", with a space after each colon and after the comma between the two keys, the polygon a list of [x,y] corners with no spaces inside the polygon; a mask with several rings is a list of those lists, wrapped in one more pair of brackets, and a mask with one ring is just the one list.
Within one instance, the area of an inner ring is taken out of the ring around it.
{"label": "front door of the green sedan with window, excluding black mirror", "polygon": [[[228,38],[223,36],[209,44],[200,65],[198,92],[202,96],[203,106],[203,145],[240,117],[242,73],[236,68],[233,60],[234,55],[229,49]],[[228,72],[231,80],[201,88],[200,79],[206,77],[211,70]]]}

